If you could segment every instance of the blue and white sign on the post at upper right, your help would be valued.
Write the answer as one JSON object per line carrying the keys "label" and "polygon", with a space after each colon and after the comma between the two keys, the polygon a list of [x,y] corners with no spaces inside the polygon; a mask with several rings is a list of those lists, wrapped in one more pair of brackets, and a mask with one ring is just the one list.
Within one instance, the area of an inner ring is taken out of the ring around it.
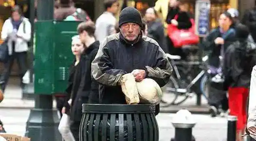
{"label": "blue and white sign on the post at upper right", "polygon": [[209,0],[196,1],[196,34],[206,36],[209,32],[211,2]]}

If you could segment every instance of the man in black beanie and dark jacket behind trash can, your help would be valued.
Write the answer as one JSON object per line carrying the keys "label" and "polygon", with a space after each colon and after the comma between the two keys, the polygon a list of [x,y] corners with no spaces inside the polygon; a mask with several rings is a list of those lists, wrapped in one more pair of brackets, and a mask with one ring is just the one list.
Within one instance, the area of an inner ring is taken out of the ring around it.
{"label": "man in black beanie and dark jacket behind trash can", "polygon": [[[120,33],[104,39],[92,63],[92,75],[99,85],[103,104],[126,104],[119,81],[136,70],[135,80],[154,79],[160,87],[168,83],[172,66],[159,44],[142,36],[142,18],[133,7],[124,8],[119,17]],[[159,105],[156,114],[159,112]]]}

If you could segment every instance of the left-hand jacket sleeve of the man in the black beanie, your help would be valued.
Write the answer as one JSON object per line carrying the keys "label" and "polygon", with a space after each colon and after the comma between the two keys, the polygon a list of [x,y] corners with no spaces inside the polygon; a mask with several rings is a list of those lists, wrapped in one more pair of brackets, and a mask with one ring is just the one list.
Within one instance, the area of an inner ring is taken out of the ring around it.
{"label": "left-hand jacket sleeve of the man in the black beanie", "polygon": [[115,69],[110,58],[110,47],[108,38],[99,46],[99,51],[92,62],[93,78],[103,85],[116,86],[121,77],[126,74],[124,70]]}

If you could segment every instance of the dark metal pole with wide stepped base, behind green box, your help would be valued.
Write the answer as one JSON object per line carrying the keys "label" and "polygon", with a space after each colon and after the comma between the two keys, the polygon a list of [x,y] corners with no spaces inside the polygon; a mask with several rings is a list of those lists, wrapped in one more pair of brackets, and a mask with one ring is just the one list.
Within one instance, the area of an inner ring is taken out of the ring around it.
{"label": "dark metal pole with wide stepped base, behind green box", "polygon": [[[53,20],[54,0],[38,0],[38,20]],[[35,95],[34,109],[26,126],[26,136],[31,141],[61,141],[58,132],[59,118],[56,110],[52,108],[52,95]]]}

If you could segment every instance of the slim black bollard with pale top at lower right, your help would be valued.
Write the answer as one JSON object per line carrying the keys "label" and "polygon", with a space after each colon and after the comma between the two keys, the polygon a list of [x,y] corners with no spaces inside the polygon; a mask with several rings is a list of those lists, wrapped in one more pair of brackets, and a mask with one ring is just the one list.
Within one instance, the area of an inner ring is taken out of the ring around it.
{"label": "slim black bollard with pale top at lower right", "polygon": [[228,116],[228,141],[236,141],[237,116]]}

